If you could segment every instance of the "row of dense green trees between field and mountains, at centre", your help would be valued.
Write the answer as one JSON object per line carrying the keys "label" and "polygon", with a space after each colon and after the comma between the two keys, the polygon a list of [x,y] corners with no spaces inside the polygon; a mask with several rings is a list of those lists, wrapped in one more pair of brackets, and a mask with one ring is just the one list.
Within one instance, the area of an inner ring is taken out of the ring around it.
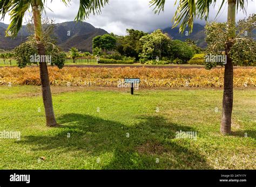
{"label": "row of dense green trees between field and mountains, at centre", "polygon": [[107,52],[111,52],[109,54],[133,57],[140,63],[149,60],[164,60],[169,63],[177,60],[178,63],[186,63],[194,54],[203,51],[192,40],[172,40],[171,36],[161,30],[149,34],[127,29],[126,33],[125,36],[111,33],[93,38],[93,51],[100,48],[104,57],[107,56]]}

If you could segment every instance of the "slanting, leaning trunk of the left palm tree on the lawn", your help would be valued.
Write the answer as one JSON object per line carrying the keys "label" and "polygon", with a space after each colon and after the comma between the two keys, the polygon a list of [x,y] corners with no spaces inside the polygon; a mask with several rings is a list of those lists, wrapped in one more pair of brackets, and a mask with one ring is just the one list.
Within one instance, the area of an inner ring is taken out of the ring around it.
{"label": "slanting, leaning trunk of the left palm tree on the lawn", "polygon": [[[37,5],[33,6],[33,20],[35,26],[35,39],[37,42],[37,50],[40,56],[45,55],[45,47],[42,42],[42,23],[41,23],[41,11],[38,9]],[[57,125],[55,114],[53,111],[52,97],[51,97],[51,88],[49,82],[49,74],[46,62],[39,63],[41,86],[42,86],[42,95],[44,102],[44,110],[46,117],[47,126]]]}

